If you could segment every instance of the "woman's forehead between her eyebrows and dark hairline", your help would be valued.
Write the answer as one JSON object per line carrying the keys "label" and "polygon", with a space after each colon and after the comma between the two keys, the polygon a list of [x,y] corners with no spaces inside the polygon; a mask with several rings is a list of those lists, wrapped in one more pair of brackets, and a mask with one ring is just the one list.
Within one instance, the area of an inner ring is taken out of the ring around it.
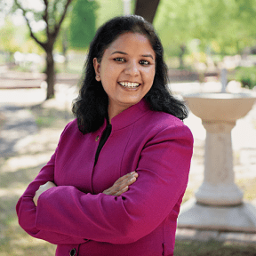
{"label": "woman's forehead between her eyebrows and dark hairline", "polygon": [[[150,44],[148,37],[141,35],[139,33],[127,32],[118,36],[114,42],[112,42],[106,52],[108,54],[114,51],[122,51],[122,52],[140,52],[140,53],[151,53],[154,57],[156,57],[155,51]],[[141,52],[142,51],[142,52]]]}

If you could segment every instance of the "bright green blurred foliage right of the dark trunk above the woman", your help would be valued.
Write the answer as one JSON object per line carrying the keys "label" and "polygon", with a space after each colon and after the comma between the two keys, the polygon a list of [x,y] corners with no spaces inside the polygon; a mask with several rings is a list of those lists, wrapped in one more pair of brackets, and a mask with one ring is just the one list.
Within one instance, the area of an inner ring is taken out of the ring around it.
{"label": "bright green blurred foliage right of the dark trunk above the woman", "polygon": [[214,42],[217,53],[233,55],[255,44],[255,16],[255,0],[162,0],[154,26],[169,56],[194,38],[201,51]]}

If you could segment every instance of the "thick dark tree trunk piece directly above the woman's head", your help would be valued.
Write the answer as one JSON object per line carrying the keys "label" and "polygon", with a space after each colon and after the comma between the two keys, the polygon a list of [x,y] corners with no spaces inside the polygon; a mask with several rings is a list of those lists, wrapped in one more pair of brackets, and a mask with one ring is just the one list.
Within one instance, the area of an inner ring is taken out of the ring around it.
{"label": "thick dark tree trunk piece directly above the woman's head", "polygon": [[148,22],[153,23],[156,9],[160,0],[137,0],[135,14],[142,16]]}

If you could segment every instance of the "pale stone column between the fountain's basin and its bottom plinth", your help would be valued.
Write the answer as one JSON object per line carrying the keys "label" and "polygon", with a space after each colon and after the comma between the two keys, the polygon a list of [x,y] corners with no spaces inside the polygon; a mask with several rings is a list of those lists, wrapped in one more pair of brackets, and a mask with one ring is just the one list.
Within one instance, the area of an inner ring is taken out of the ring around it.
{"label": "pale stone column between the fountain's basin and its bottom plinth", "polygon": [[243,202],[243,193],[235,184],[231,129],[235,124],[203,123],[206,129],[204,182],[196,191],[201,204],[234,205]]}

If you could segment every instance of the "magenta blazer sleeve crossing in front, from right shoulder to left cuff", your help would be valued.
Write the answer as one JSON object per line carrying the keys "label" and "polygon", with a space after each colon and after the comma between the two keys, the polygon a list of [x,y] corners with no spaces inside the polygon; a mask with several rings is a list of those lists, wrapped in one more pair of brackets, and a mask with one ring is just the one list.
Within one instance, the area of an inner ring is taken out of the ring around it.
{"label": "magenta blazer sleeve crossing in front, from right shoulder to left cuff", "polygon": [[36,228],[112,244],[135,242],[172,210],[177,218],[175,205],[188,184],[192,151],[187,126],[165,128],[141,151],[139,178],[122,196],[84,194],[72,186],[50,188],[38,198]]}

